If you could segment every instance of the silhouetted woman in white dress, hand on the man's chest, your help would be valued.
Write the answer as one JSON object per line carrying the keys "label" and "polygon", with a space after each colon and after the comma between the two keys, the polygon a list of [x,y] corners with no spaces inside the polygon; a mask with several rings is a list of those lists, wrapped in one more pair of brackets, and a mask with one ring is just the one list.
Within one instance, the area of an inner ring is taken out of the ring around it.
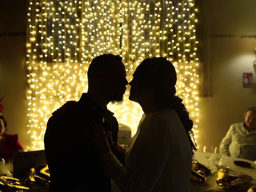
{"label": "silhouetted woman in white dress, hand on the man's chest", "polygon": [[192,169],[193,122],[182,99],[175,96],[174,66],[166,58],[147,58],[129,83],[129,99],[144,111],[125,152],[125,166],[109,149],[103,129],[92,122],[88,135],[102,157],[103,167],[122,192],[189,192]]}

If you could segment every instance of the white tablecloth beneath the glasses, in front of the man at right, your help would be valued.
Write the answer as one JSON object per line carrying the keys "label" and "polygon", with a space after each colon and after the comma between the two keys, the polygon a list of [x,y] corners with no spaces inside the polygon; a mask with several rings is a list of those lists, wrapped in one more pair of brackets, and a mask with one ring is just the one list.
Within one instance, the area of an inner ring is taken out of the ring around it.
{"label": "white tablecloth beneath the glasses, in front of the man at right", "polygon": [[[199,163],[208,166],[208,159],[204,156],[204,153],[196,152],[195,153],[195,160],[197,160]],[[245,168],[240,167],[234,164],[234,160],[242,160],[246,161],[252,164],[251,168]],[[211,161],[210,161],[211,162]],[[212,165],[212,162],[210,164]],[[230,167],[230,173],[232,174],[247,174],[251,176],[254,180],[251,183],[244,184],[243,186],[232,188],[230,190],[227,189],[221,189],[218,188],[218,185],[216,183],[216,175],[217,173],[213,173],[210,176],[207,176],[207,180],[204,184],[199,184],[196,182],[190,182],[190,192],[247,192],[247,190],[252,186],[253,184],[256,184],[256,167],[254,165],[253,161],[240,159],[240,158],[232,158],[229,156],[225,156],[225,158],[222,160],[223,167]]]}

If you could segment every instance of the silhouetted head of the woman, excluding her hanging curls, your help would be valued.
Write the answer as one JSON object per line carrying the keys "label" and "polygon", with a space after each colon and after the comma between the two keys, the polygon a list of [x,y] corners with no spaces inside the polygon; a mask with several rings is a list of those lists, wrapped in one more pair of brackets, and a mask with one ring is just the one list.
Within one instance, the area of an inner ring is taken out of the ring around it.
{"label": "silhouetted head of the woman, excluding her hanging curls", "polygon": [[[159,96],[168,95],[168,98],[176,93],[175,84],[177,75],[174,66],[164,57],[153,57],[144,59],[133,74],[130,100],[138,102],[139,93],[151,91],[153,102],[158,103]],[[142,96],[141,96],[142,97]]]}

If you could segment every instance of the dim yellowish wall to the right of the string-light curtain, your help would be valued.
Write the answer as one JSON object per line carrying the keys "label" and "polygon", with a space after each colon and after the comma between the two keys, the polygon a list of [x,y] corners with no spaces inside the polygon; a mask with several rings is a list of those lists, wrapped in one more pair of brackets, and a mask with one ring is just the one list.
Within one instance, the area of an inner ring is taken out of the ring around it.
{"label": "dim yellowish wall to the right of the string-light curtain", "polygon": [[[256,106],[256,90],[242,87],[242,73],[252,72],[256,38],[255,0],[206,0],[209,41],[208,60],[211,65],[212,97],[200,98],[200,134],[198,142],[218,146],[230,124],[242,122],[244,111]],[[232,38],[213,38],[215,34],[234,34]]]}

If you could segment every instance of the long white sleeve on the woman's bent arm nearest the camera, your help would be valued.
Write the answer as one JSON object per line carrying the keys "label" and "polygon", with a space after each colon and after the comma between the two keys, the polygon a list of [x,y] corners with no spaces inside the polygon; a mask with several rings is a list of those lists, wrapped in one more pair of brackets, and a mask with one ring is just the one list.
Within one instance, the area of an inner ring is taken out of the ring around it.
{"label": "long white sleeve on the woman's bent arm nearest the camera", "polygon": [[113,154],[103,160],[104,169],[122,192],[151,192],[158,182],[172,150],[172,134],[165,117],[145,118],[137,138],[139,156],[132,172],[118,162]]}

